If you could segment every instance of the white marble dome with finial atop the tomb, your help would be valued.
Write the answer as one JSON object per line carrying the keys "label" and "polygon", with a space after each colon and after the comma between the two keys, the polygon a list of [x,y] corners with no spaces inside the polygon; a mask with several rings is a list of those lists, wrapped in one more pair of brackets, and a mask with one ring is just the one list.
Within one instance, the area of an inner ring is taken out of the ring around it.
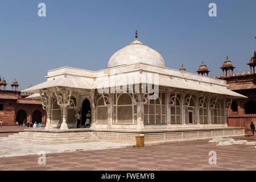
{"label": "white marble dome with finial atop the tomb", "polygon": [[166,67],[163,57],[154,49],[139,42],[135,35],[132,43],[115,52],[109,59],[108,68],[119,65],[146,63],[160,67]]}

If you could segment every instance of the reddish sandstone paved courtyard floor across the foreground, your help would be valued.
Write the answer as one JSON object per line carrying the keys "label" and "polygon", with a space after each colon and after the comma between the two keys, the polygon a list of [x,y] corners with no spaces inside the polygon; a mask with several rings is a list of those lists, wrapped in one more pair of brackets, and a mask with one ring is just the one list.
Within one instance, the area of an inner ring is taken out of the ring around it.
{"label": "reddish sandstone paved courtyard floor across the foreground", "polygon": [[[210,165],[209,151],[217,154]],[[0,158],[2,170],[256,170],[256,148],[246,144],[216,146],[205,140],[159,146],[112,148]]]}

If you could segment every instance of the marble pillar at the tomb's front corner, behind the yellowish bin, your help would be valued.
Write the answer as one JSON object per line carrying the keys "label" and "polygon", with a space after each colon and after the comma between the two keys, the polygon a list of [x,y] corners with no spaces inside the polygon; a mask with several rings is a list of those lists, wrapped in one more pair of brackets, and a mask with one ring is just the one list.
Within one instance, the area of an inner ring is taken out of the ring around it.
{"label": "marble pillar at the tomb's front corner, behind the yellowish bin", "polygon": [[144,129],[144,104],[147,104],[148,94],[138,93],[134,94],[134,104],[137,105],[137,129]]}

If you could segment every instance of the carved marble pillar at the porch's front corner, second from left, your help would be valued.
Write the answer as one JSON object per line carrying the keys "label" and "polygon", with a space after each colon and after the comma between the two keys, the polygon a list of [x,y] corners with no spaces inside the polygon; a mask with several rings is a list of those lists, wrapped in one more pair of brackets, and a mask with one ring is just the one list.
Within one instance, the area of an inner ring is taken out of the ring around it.
{"label": "carved marble pillar at the porch's front corner, second from left", "polygon": [[62,123],[60,126],[60,130],[68,130],[67,124],[67,108],[70,104],[72,91],[66,88],[59,89],[55,88],[55,95],[57,97],[57,104],[60,106],[62,110]]}

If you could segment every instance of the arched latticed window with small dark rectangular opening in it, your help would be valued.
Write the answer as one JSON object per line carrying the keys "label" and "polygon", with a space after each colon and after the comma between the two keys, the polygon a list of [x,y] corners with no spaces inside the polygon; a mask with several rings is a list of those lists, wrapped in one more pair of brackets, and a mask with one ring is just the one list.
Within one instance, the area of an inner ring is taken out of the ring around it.
{"label": "arched latticed window with small dark rectangular opening in it", "polygon": [[[189,96],[186,96],[189,97]],[[187,105],[185,109],[185,118],[186,123],[196,123],[196,100],[195,96],[192,96],[189,101],[189,105]]]}

